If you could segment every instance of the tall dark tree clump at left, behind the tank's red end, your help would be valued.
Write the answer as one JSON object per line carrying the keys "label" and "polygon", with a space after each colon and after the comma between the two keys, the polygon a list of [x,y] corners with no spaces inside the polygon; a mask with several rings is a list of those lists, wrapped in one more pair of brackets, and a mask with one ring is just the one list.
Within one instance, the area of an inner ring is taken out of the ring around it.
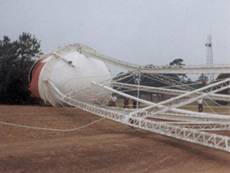
{"label": "tall dark tree clump at left, behind the tank's red end", "polygon": [[35,56],[40,53],[40,42],[30,33],[22,33],[18,40],[4,36],[0,40],[0,102],[30,102],[28,74]]}

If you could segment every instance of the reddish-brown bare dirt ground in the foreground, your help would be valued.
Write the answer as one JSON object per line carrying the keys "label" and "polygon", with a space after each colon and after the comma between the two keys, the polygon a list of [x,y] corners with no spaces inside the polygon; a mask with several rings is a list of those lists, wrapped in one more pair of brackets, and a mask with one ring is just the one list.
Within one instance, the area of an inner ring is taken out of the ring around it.
{"label": "reddish-brown bare dirt ground in the foreground", "polygon": [[[0,121],[73,128],[98,119],[73,108],[0,106]],[[230,153],[102,120],[75,132],[0,125],[4,173],[229,173]]]}

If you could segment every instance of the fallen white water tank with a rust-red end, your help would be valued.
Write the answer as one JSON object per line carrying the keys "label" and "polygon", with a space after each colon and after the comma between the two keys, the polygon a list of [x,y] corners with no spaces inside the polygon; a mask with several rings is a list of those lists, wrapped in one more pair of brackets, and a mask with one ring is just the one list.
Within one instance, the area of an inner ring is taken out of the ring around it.
{"label": "fallen white water tank with a rust-red end", "polygon": [[52,82],[58,90],[73,99],[88,103],[105,103],[111,93],[91,82],[108,82],[112,79],[106,64],[81,54],[77,44],[69,45],[47,55],[42,55],[30,74],[30,91],[51,105],[64,104],[51,89]]}

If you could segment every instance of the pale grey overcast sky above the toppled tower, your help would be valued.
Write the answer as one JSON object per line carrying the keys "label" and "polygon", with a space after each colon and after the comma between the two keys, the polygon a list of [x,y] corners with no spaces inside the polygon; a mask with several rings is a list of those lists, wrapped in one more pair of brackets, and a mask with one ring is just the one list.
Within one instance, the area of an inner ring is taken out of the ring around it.
{"label": "pale grey overcast sky above the toppled tower", "polygon": [[0,38],[30,32],[49,53],[83,43],[137,64],[230,64],[230,0],[0,0]]}

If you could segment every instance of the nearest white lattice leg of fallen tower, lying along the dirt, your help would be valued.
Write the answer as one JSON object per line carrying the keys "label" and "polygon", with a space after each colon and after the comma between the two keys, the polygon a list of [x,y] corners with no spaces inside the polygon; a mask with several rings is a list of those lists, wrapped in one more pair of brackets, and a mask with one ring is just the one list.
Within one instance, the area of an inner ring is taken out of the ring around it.
{"label": "nearest white lattice leg of fallen tower, lying along the dirt", "polygon": [[105,108],[91,105],[78,100],[74,100],[69,96],[64,95],[52,83],[49,82],[51,92],[56,93],[58,99],[68,105],[79,109],[91,112],[100,117],[105,117],[132,127],[140,128],[157,134],[165,135],[175,139],[184,140],[187,142],[200,144],[214,149],[230,152],[230,138],[227,136],[201,132],[195,129],[181,128],[174,125],[162,124],[156,121],[146,120],[143,118],[130,117],[125,114],[111,111]]}

